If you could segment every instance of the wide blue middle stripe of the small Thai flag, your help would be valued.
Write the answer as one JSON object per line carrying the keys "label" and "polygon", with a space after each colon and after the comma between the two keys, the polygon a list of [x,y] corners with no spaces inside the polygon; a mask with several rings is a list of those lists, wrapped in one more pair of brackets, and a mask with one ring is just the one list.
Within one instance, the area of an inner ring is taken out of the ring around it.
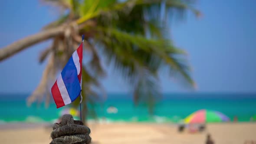
{"label": "wide blue middle stripe of the small Thai flag", "polygon": [[80,83],[77,76],[77,70],[73,58],[71,57],[61,72],[63,82],[69,93],[71,101],[74,101],[81,92]]}

